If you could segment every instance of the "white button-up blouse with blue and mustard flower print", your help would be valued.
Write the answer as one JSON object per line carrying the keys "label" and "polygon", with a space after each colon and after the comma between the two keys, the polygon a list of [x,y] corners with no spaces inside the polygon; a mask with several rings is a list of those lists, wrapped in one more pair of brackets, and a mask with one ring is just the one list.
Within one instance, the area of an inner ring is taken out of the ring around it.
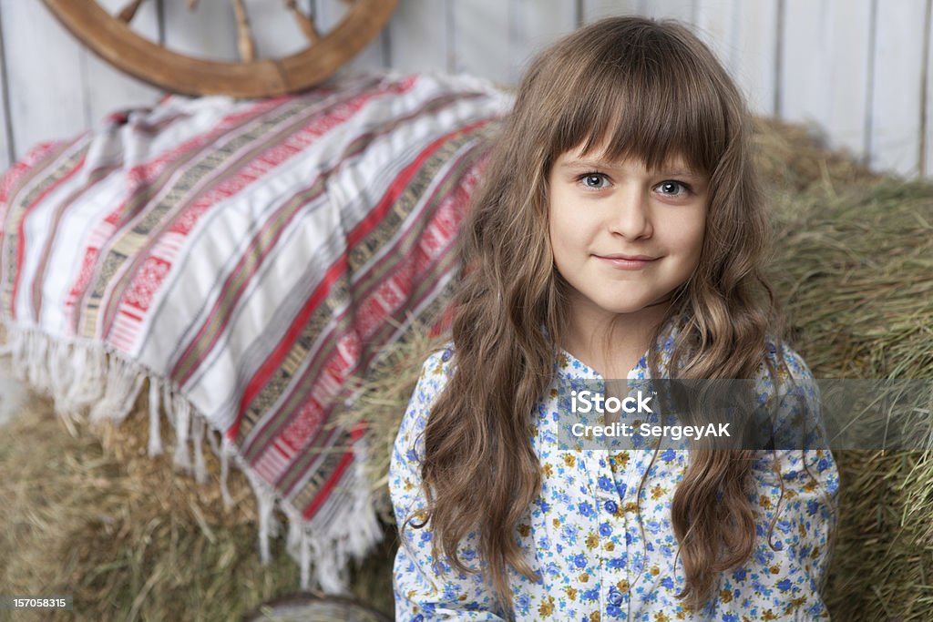
{"label": "white button-up blouse with blue and mustard flower print", "polygon": [[[673,339],[658,344],[661,371]],[[776,351],[770,347],[776,359]],[[789,374],[812,379],[796,353],[785,348]],[[398,431],[389,487],[397,524],[425,508],[421,490],[421,433],[432,402],[455,362],[448,348],[425,362]],[[767,380],[765,366],[759,378]],[[555,362],[558,380],[599,379],[599,374],[563,352]],[[787,371],[783,372],[786,376]],[[646,357],[629,379],[648,377]],[[783,383],[782,383],[783,385]],[[688,465],[689,449],[662,450],[650,465],[638,505],[634,496],[654,449],[560,450],[556,442],[557,392],[538,402],[531,438],[542,466],[542,488],[520,522],[516,537],[540,579],[508,569],[514,618],[494,607],[481,574],[460,574],[431,555],[431,525],[401,527],[395,560],[396,619],[427,620],[812,620],[828,619],[819,587],[829,562],[835,527],[838,471],[829,450],[759,452],[753,465],[758,542],[745,566],[719,575],[716,597],[691,611],[676,594],[684,586],[682,560],[671,522],[671,502]],[[762,394],[763,398],[763,394]],[[771,399],[774,399],[772,397]],[[773,460],[779,461],[779,473]],[[806,465],[804,465],[804,462]],[[809,471],[809,473],[808,473]],[[784,499],[778,508],[781,482]],[[640,506],[640,508],[638,507]],[[775,510],[779,509],[769,533]],[[467,568],[481,569],[478,536],[469,532],[459,553]]]}

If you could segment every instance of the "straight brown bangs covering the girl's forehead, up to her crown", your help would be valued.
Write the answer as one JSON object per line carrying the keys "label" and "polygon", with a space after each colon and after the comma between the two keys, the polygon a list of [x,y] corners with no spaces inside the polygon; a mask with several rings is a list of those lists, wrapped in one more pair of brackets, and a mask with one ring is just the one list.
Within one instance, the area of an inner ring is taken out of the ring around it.
{"label": "straight brown bangs covering the girl's forehead, up to her crown", "polygon": [[712,173],[736,131],[718,92],[723,80],[710,75],[715,63],[696,62],[682,42],[657,45],[637,35],[622,46],[607,37],[615,45],[604,43],[597,62],[591,57],[570,65],[551,161],[581,148],[606,159],[638,158],[649,169],[679,157],[697,172]]}

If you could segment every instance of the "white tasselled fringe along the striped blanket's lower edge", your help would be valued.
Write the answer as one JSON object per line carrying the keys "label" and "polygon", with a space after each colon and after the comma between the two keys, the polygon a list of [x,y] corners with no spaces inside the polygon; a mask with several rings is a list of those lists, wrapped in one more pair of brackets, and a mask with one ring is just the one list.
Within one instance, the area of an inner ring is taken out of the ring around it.
{"label": "white tasselled fringe along the striped blanket's lower edge", "polygon": [[[56,412],[72,434],[77,434],[77,423],[125,420],[148,380],[149,456],[163,452],[161,415],[164,412],[174,427],[175,467],[205,483],[208,477],[202,441],[206,435],[220,461],[219,485],[224,505],[229,508],[233,503],[227,485],[230,461],[244,473],[256,494],[262,563],[272,559],[270,540],[278,537],[282,529],[275,516],[278,509],[287,518],[285,547],[299,563],[300,588],[320,587],[327,594],[349,594],[349,561],[362,560],[383,539],[379,519],[369,499],[365,475],[369,451],[365,439],[355,441],[352,481],[342,490],[332,492],[318,512],[327,518],[327,523],[321,524],[323,521],[317,516],[307,521],[297,507],[253,472],[223,431],[213,428],[169,381],[107,350],[97,341],[64,340],[8,324],[5,328],[7,343],[0,345],[0,356],[10,357],[12,371],[19,380],[51,396]],[[220,437],[219,442],[211,430]],[[341,504],[341,499],[349,499],[350,503]]]}

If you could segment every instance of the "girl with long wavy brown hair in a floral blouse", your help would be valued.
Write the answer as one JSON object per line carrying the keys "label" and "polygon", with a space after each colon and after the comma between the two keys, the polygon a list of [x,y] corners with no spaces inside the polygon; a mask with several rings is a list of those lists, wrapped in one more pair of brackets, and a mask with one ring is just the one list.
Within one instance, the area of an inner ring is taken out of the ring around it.
{"label": "girl with long wavy brown hair in a floral blouse", "polygon": [[395,444],[398,620],[828,616],[829,451],[555,436],[560,380],[753,379],[783,405],[812,378],[776,337],[749,132],[675,23],[599,21],[532,63]]}

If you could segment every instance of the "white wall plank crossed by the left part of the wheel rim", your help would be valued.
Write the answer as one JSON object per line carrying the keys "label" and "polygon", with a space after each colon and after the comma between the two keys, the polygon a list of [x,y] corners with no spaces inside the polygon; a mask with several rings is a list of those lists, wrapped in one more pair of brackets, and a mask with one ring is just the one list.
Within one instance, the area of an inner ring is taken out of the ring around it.
{"label": "white wall plank crossed by the left part of the wheel rim", "polygon": [[[101,7],[116,14],[126,6],[127,0],[98,0]],[[159,15],[152,0],[143,3],[131,22],[133,31],[152,41],[159,40]],[[87,51],[83,53],[88,54]],[[151,105],[158,101],[162,91],[132,76],[127,76],[92,53],[86,64],[85,96],[92,127],[115,110]]]}

